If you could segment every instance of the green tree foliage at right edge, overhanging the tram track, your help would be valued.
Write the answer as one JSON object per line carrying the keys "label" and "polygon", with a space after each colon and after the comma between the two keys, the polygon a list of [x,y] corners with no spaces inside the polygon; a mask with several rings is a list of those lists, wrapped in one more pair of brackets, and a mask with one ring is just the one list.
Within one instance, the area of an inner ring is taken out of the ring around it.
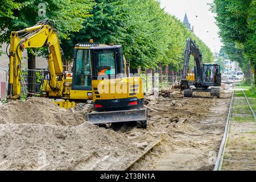
{"label": "green tree foliage at right edge, overhanging the tram track", "polygon": [[[244,72],[256,70],[256,1],[215,0],[217,25],[229,59],[238,61]],[[256,74],[254,74],[255,80]],[[255,86],[255,85],[254,85]]]}

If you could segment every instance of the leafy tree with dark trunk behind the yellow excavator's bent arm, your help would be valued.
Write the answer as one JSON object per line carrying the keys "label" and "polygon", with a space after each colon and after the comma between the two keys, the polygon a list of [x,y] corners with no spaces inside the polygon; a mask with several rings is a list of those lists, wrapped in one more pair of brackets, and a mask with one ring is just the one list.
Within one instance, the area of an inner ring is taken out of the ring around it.
{"label": "leafy tree with dark trunk behind the yellow excavator's bent arm", "polygon": [[[34,26],[39,20],[45,18],[51,20],[60,40],[68,39],[71,32],[79,31],[82,28],[82,22],[89,16],[89,9],[92,5],[91,1],[86,0],[3,1],[3,6],[0,8],[0,32],[3,32],[0,45],[10,42],[11,31]],[[35,69],[34,51],[28,50],[28,69]],[[34,78],[35,72],[29,71],[28,76]],[[34,82],[34,79],[28,80],[28,85],[32,86],[28,88],[31,92],[35,91],[34,84],[31,84]]]}

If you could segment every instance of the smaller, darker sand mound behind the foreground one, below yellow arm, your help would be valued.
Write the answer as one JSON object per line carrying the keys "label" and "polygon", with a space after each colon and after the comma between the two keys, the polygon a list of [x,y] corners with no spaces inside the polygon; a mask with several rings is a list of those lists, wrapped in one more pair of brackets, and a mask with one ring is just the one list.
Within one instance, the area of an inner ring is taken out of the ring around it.
{"label": "smaller, darker sand mound behind the foreground one, below yellow arm", "polygon": [[76,126],[84,122],[82,115],[58,107],[47,98],[31,97],[0,106],[0,123],[40,123]]}

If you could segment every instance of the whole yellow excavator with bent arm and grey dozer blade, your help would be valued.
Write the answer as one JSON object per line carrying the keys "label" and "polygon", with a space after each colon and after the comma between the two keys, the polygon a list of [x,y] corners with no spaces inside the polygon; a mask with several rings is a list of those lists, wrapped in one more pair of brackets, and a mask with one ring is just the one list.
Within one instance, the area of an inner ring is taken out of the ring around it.
{"label": "whole yellow excavator with bent arm and grey dozer blade", "polygon": [[[22,35],[20,35],[22,34]],[[79,43],[75,45],[73,72],[65,73],[57,31],[44,19],[33,27],[11,32],[8,99],[20,98],[21,54],[25,48],[46,46],[49,75],[42,97],[53,98],[60,107],[74,107],[92,100],[93,124],[137,122],[147,127],[147,109],[141,77],[129,77],[129,66],[120,45]]]}

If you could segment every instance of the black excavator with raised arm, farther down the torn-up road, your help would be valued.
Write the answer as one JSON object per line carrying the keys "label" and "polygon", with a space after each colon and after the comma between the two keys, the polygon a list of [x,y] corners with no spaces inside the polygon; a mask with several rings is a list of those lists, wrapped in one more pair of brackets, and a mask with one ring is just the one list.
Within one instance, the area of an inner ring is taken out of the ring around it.
{"label": "black excavator with raised arm, farther down the torn-up road", "polygon": [[[190,56],[194,57],[195,67],[189,73]],[[220,98],[221,73],[218,64],[203,64],[202,54],[196,42],[189,37],[185,48],[183,74],[180,90],[184,97],[192,97],[193,92],[210,92],[210,96]]]}

